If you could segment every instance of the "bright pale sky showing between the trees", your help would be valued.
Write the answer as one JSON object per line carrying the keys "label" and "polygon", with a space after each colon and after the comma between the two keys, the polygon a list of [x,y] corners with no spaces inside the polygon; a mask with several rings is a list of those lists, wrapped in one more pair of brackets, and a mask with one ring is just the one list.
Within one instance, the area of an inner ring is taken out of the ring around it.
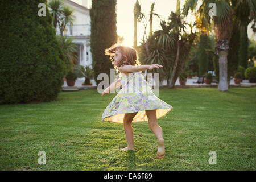
{"label": "bright pale sky showing between the trees", "polygon": [[[81,5],[82,0],[72,0]],[[117,34],[124,38],[123,45],[125,46],[133,46],[133,34],[134,34],[134,15],[133,8],[136,0],[117,0]],[[171,11],[176,11],[176,0],[139,0],[141,4],[142,13],[144,13],[147,18],[150,13],[150,6],[155,2],[155,13],[159,14],[162,19],[167,20]],[[185,0],[180,0],[180,9],[182,9]],[[88,8],[92,5],[92,1],[88,0]],[[191,12],[191,11],[190,11]],[[195,22],[195,16],[189,14],[187,21]],[[253,32],[250,28],[251,24],[249,24],[248,28],[248,36],[251,38]],[[153,18],[153,31],[160,29],[160,19],[156,16]],[[188,30],[189,31],[189,30]],[[146,34],[149,32],[149,23],[147,25]],[[142,42],[142,38],[144,35],[144,26],[143,23],[137,23],[137,42],[138,46],[140,42]],[[254,40],[256,37],[254,35]]]}

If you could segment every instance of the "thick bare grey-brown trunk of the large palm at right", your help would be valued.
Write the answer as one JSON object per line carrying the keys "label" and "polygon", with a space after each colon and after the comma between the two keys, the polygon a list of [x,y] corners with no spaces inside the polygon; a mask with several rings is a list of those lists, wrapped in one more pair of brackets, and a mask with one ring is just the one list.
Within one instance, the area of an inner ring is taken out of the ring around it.
{"label": "thick bare grey-brown trunk of the large palm at right", "polygon": [[228,90],[228,50],[218,52],[218,63],[220,65],[220,80],[218,82],[218,91]]}

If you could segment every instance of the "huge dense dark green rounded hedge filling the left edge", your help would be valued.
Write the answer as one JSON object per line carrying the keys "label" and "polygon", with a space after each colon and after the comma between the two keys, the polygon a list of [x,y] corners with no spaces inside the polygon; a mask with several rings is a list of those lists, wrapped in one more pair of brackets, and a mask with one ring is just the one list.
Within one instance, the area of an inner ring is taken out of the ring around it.
{"label": "huge dense dark green rounded hedge filling the left edge", "polygon": [[0,10],[0,104],[55,100],[66,69],[46,0],[1,0]]}

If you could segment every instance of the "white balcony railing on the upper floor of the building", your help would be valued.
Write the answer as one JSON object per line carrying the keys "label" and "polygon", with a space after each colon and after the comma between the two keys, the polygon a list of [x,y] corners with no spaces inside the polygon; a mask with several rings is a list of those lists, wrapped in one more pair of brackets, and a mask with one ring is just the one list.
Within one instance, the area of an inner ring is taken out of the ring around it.
{"label": "white balcony railing on the upper floor of the building", "polygon": [[73,24],[72,27],[67,26],[66,29],[65,36],[90,36],[90,24]]}

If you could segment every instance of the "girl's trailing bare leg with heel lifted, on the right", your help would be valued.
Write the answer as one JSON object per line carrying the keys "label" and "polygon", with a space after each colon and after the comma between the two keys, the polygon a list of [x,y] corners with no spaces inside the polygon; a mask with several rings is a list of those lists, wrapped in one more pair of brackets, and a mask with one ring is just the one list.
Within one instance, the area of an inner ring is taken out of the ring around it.
{"label": "girl's trailing bare leg with heel lifted, on the right", "polygon": [[147,118],[148,118],[148,125],[150,129],[154,132],[156,138],[158,139],[158,152],[156,156],[158,158],[163,158],[165,151],[164,151],[164,139],[163,139],[163,130],[158,125],[158,121],[156,119],[156,110],[146,110]]}

